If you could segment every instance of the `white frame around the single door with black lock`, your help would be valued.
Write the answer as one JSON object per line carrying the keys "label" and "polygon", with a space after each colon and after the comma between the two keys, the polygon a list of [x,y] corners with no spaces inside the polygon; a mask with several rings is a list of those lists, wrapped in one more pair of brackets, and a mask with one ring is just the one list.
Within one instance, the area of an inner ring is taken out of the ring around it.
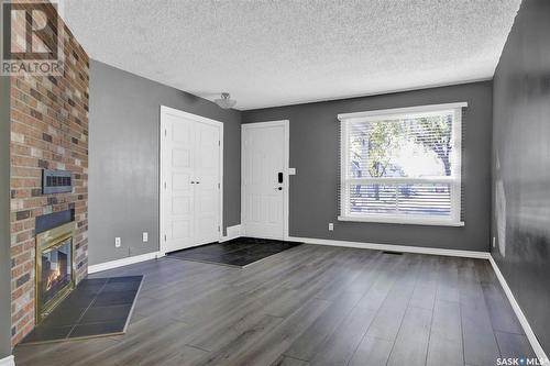
{"label": "white frame around the single door with black lock", "polygon": [[267,121],[267,122],[253,122],[253,123],[244,123],[241,124],[241,224],[244,228],[244,233],[242,235],[246,235],[246,223],[244,222],[244,167],[245,159],[244,156],[245,145],[244,145],[244,131],[250,129],[261,129],[261,127],[272,127],[272,126],[284,126],[285,130],[285,166],[284,166],[284,179],[283,179],[283,221],[284,221],[284,231],[283,239],[288,240],[288,206],[289,206],[289,166],[290,166],[290,126],[288,120],[278,120],[278,121]]}

